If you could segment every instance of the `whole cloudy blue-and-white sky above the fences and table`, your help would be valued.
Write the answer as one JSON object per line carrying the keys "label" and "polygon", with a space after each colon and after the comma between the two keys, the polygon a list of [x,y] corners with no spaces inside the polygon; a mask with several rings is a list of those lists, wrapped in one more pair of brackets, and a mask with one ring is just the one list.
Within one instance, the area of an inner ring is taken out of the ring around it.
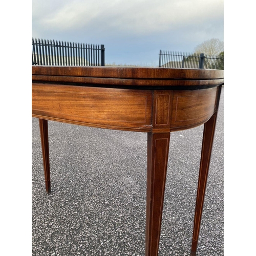
{"label": "whole cloudy blue-and-white sky above the fences and table", "polygon": [[32,37],[105,46],[105,63],[158,66],[159,50],[223,39],[223,0],[32,0]]}

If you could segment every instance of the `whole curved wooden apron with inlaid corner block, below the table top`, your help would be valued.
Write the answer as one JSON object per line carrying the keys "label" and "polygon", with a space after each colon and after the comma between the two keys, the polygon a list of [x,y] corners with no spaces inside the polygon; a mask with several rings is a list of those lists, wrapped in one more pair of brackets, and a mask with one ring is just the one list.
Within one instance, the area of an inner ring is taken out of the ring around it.
{"label": "whole curved wooden apron with inlaid corner block, below the table top", "polygon": [[32,83],[32,116],[136,132],[165,133],[205,123],[215,112],[218,87],[130,90]]}

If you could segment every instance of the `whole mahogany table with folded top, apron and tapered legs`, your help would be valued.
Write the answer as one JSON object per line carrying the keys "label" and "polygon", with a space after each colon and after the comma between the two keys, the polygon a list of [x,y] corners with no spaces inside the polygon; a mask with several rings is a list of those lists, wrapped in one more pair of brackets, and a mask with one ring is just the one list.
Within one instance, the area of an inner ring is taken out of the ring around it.
{"label": "whole mahogany table with folded top, apron and tapered legs", "polygon": [[196,255],[223,70],[32,66],[47,193],[48,121],[147,133],[146,256],[157,256],[170,132],[204,124],[191,255]]}

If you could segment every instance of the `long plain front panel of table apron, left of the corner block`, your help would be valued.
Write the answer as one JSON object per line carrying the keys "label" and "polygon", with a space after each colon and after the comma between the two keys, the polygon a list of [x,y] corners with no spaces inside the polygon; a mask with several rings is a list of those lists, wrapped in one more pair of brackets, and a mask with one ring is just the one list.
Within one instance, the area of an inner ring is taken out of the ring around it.
{"label": "long plain front panel of table apron, left of the corner block", "polygon": [[148,131],[152,92],[32,83],[32,115],[50,120]]}

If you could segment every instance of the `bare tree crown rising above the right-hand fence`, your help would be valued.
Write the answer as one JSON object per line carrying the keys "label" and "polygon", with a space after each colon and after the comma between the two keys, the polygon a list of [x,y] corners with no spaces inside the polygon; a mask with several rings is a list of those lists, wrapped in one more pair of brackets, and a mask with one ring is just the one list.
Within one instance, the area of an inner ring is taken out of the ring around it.
{"label": "bare tree crown rising above the right-hand fence", "polygon": [[195,53],[204,53],[206,55],[219,55],[223,51],[224,42],[217,38],[206,40],[195,48]]}

